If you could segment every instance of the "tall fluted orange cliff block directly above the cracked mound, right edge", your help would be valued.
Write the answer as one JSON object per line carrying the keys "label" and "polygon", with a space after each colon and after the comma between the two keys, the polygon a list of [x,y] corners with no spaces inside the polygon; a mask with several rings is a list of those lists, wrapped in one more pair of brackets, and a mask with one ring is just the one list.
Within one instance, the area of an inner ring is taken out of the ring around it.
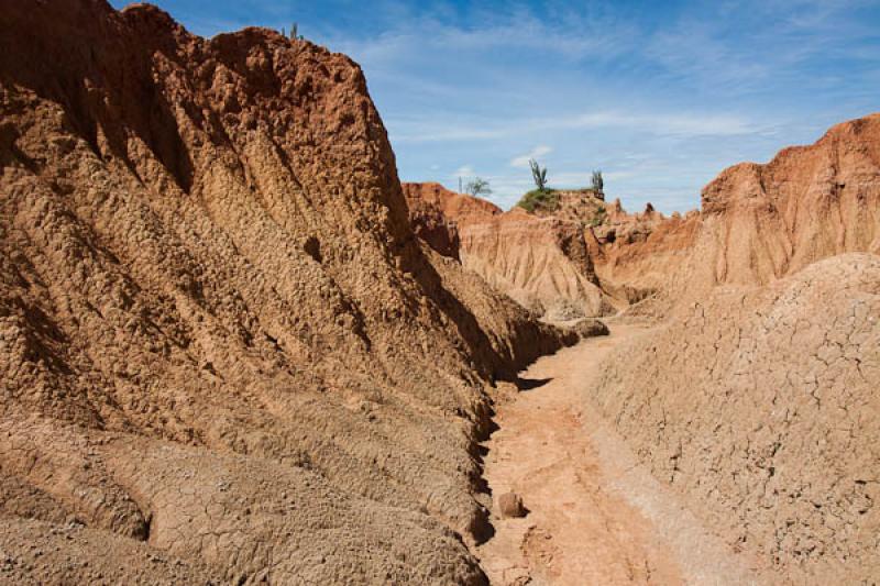
{"label": "tall fluted orange cliff block directly above the cracked mound, right edge", "polygon": [[703,190],[712,283],[765,284],[846,252],[880,253],[880,114],[845,122]]}

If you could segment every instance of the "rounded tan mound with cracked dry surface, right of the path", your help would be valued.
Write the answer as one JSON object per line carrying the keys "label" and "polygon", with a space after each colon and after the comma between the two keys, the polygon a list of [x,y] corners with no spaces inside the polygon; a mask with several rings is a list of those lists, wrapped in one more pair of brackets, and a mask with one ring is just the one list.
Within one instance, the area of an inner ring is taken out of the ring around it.
{"label": "rounded tan mound with cracked dry surface, right of the path", "polygon": [[606,361],[592,399],[654,476],[795,583],[880,576],[880,257],[721,287]]}

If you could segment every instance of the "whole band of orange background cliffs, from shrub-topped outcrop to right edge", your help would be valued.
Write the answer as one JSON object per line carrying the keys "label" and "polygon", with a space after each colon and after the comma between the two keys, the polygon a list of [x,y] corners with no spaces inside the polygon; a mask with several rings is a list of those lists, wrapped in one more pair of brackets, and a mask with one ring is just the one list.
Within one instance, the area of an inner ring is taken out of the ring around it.
{"label": "whole band of orange background cliffs, from shrub-topped outcrop to right edge", "polygon": [[[554,210],[536,213],[460,220],[439,209],[468,226],[458,229],[462,264],[530,310],[602,314],[656,298],[649,311],[666,313],[718,284],[767,284],[827,256],[880,252],[879,145],[880,114],[839,124],[766,165],[730,167],[683,217],[650,204],[627,213],[590,190],[561,191]],[[410,201],[419,185],[407,187]]]}

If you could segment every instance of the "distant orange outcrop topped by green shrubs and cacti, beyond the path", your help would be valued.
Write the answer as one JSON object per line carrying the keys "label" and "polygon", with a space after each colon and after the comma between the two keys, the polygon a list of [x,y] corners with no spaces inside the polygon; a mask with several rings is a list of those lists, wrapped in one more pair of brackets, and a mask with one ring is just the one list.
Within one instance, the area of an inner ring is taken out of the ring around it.
{"label": "distant orange outcrop topped by green shrubs and cacti, beyond the path", "polygon": [[554,322],[609,314],[662,290],[700,225],[696,213],[628,213],[591,190],[556,191],[552,209],[504,213],[438,184],[404,191],[416,234]]}

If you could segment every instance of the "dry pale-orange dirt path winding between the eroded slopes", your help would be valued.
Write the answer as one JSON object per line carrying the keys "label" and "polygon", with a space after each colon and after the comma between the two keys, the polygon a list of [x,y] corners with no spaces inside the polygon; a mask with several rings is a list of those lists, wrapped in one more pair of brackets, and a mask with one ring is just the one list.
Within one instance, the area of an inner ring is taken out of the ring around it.
{"label": "dry pale-orange dirt path winding between the eroded slopes", "polygon": [[495,499],[514,490],[529,512],[498,519],[496,511],[495,535],[477,548],[493,584],[765,582],[641,468],[590,407],[600,361],[644,332],[617,324],[609,336],[539,360],[522,373],[534,388],[498,407],[485,477]]}

